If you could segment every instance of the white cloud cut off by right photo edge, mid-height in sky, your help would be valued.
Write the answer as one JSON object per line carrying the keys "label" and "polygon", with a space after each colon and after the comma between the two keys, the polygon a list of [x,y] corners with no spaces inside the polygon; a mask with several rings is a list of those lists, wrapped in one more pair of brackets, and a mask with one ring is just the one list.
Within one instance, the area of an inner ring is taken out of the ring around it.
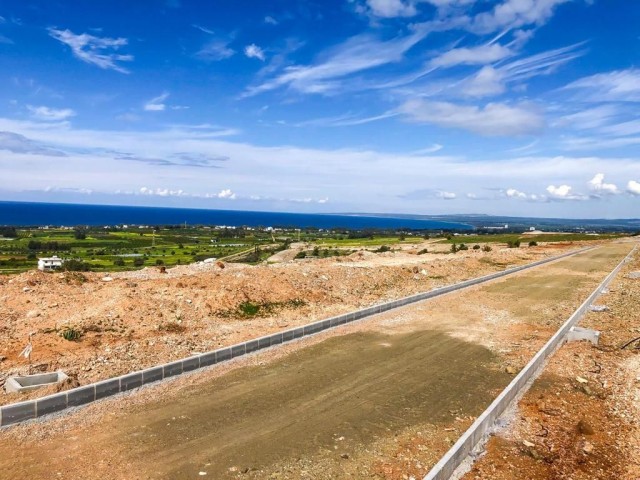
{"label": "white cloud cut off by right photo edge, mid-height in sky", "polygon": [[640,69],[617,70],[584,77],[565,88],[581,90],[594,102],[640,102]]}

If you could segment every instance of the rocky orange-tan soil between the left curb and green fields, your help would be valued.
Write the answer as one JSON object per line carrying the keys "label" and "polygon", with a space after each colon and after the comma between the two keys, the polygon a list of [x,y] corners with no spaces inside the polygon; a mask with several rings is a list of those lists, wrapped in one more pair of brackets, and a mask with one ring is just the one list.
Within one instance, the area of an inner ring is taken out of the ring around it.
{"label": "rocky orange-tan soil between the left curb and green fields", "polygon": [[[19,354],[32,332],[32,373],[61,369],[83,385],[578,246],[417,255],[423,246],[410,245],[277,265],[198,263],[164,274],[147,268],[0,277],[0,387],[29,372]],[[240,314],[246,301],[263,305],[257,316]],[[80,341],[60,336],[67,327],[82,332]],[[1,392],[0,404],[29,398]]]}

